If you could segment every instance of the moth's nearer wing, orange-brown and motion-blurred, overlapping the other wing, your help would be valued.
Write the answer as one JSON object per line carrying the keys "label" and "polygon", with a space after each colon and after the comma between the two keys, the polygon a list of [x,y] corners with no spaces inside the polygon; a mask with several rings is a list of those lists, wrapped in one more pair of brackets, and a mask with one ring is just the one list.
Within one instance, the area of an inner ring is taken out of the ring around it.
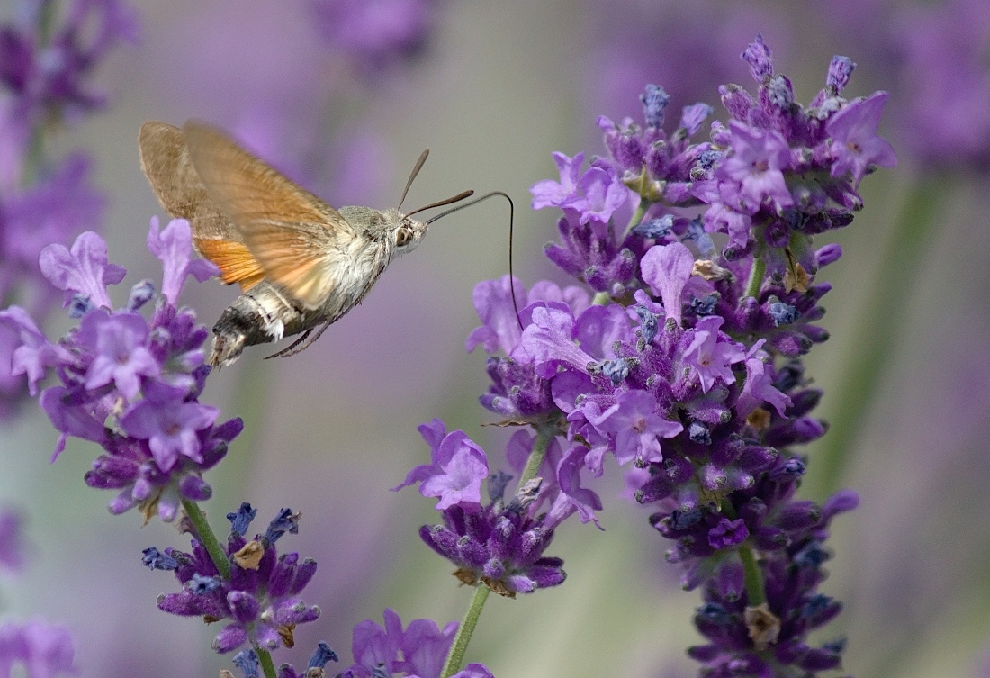
{"label": "moth's nearer wing, orange-brown and motion-blurred, overlapping the other wing", "polygon": [[305,308],[323,306],[357,237],[347,220],[220,131],[189,121],[182,132],[207,193],[265,277]]}

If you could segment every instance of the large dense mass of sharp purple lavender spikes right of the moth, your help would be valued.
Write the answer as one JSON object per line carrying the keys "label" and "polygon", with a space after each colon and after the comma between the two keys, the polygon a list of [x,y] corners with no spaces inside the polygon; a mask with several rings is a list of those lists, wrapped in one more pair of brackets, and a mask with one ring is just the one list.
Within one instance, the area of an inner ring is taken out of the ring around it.
{"label": "large dense mass of sharp purple lavender spikes right of the moth", "polygon": [[[668,98],[650,85],[644,126],[599,120],[608,157],[582,170],[582,153],[554,154],[559,182],[533,187],[534,208],[563,213],[561,242],[546,253],[595,296],[550,283],[527,294],[508,277],[483,282],[474,292],[483,326],[467,341],[504,352],[488,360],[493,384],[482,405],[548,436],[545,449],[567,447],[537,474],[551,486],[551,507],[566,500],[593,518],[601,506],[580,490],[580,473],[600,475],[606,456],[633,462],[637,500],[656,507],[650,525],[673,541],[668,559],[683,566],[685,588],[704,592],[696,624],[709,644],[690,653],[706,675],[727,677],[840,663],[841,643],[812,648],[806,639],[841,609],[817,590],[828,558],[822,543],[857,498],[795,499],[806,462],[789,448],[826,432],[810,416],[822,394],[809,386],[801,356],[828,338],[814,323],[830,286],[814,276],[841,249],[816,249],[812,237],[848,224],[861,207],[862,177],[894,162],[876,136],[886,93],[841,97],[851,61],[834,58],[826,87],[804,108],[761,38],[743,58],[758,91],[721,88],[731,121],[712,123],[709,141],[690,140],[710,107],[686,107],[667,135]],[[633,214],[625,232],[615,225],[624,210]],[[446,454],[432,444],[421,491],[444,497],[460,483],[458,506],[463,481],[478,475],[457,461],[466,443]],[[524,485],[509,505],[523,510],[529,493],[544,491],[533,482],[539,490]],[[469,502],[474,494],[471,485]],[[507,550],[502,534],[519,530],[493,503],[485,511],[469,503],[464,518],[438,506],[446,528],[423,533],[482,581],[485,558]],[[504,532],[485,529],[489,516]],[[491,533],[501,551],[484,541]]]}

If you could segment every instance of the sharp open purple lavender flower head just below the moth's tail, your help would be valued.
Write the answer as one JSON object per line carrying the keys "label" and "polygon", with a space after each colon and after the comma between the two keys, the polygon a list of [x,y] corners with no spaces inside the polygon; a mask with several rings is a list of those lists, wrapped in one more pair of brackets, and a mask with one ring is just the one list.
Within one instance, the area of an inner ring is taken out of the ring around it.
{"label": "sharp open purple lavender flower head just below the moth's tail", "polygon": [[120,282],[126,271],[108,262],[103,239],[86,232],[71,248],[50,244],[41,255],[42,272],[64,291],[78,327],[51,342],[17,306],[0,311],[0,326],[17,338],[12,373],[27,375],[32,395],[49,372],[60,381],[41,395],[60,432],[52,459],[68,436],[99,443],[104,453],[85,481],[119,491],[110,510],[119,514],[138,506],[146,520],[156,513],[172,521],[182,499],[209,498],[202,473],[224,457],[243,424],[234,419],[216,426],[219,411],[199,402],[209,373],[201,346],[209,333],[191,310],[176,306],[186,276],[205,280],[215,266],[192,259],[191,232],[183,220],[160,233],[152,220],[148,249],[164,269],[150,320],[139,313],[154,297],[149,280],[132,288],[123,308],[112,310],[107,285]]}

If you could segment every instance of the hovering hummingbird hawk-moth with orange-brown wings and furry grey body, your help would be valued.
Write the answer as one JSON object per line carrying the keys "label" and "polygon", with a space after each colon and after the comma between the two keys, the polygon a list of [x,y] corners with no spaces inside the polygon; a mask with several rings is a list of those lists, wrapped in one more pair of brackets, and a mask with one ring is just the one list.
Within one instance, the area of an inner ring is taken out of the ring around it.
{"label": "hovering hummingbird hawk-moth with orange-brown wings and furry grey body", "polygon": [[426,222],[411,219],[414,214],[473,193],[402,214],[425,150],[399,207],[335,210],[205,123],[189,121],[179,129],[149,121],[138,144],[158,202],[189,221],[193,245],[220,268],[221,280],[241,286],[241,296],[213,327],[208,362],[214,367],[234,362],[248,345],[283,337],[302,335],[274,355],[306,348],[364,299],[392,259],[414,249],[427,227],[449,212]]}

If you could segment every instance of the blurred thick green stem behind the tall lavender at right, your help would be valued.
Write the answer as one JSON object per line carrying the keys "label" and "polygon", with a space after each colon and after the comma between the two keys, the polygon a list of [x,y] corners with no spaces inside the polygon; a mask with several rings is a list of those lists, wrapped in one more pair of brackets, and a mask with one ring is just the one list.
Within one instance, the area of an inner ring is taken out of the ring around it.
{"label": "blurred thick green stem behind the tall lavender at right", "polygon": [[947,181],[931,174],[919,177],[904,201],[887,251],[877,261],[873,289],[855,325],[857,341],[844,361],[829,417],[829,434],[814,453],[809,494],[825,498],[839,489],[853,446],[887,371],[902,333],[912,281],[932,233]]}

